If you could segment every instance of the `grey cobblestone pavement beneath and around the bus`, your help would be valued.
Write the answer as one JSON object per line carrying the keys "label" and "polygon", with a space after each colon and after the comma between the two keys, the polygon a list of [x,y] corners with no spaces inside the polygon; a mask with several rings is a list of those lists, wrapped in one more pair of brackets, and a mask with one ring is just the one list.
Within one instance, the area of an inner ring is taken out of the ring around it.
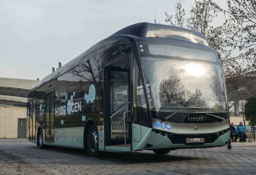
{"label": "grey cobblestone pavement beneath and around the bus", "polygon": [[83,149],[39,149],[26,139],[0,139],[0,174],[256,174],[256,143],[226,147],[87,156]]}

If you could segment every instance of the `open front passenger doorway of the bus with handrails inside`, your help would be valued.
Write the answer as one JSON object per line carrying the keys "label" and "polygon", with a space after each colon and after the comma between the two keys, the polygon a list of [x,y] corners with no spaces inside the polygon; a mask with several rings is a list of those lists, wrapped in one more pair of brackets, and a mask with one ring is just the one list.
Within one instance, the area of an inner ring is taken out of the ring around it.
{"label": "open front passenger doorway of the bus with handrails inside", "polygon": [[129,54],[105,69],[107,145],[130,147]]}

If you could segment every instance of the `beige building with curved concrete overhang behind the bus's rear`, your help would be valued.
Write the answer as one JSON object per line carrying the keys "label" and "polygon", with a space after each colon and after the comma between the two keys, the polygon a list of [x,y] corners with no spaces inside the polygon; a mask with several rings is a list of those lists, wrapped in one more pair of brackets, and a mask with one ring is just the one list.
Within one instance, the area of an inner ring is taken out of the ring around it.
{"label": "beige building with curved concrete overhang behind the bus's rear", "polygon": [[0,138],[26,137],[26,104],[38,80],[0,78]]}

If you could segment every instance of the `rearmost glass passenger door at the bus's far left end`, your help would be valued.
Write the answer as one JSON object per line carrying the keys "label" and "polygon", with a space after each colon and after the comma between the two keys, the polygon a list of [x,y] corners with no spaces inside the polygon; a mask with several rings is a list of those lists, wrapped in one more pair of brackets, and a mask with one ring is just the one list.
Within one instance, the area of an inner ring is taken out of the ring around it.
{"label": "rearmost glass passenger door at the bus's far left end", "polygon": [[30,100],[29,140],[36,139],[36,98]]}

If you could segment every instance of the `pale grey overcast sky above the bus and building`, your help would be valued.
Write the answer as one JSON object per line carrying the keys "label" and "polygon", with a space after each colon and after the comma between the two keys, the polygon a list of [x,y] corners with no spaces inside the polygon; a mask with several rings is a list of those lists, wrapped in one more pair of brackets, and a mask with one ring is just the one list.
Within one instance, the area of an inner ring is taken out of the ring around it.
{"label": "pale grey overcast sky above the bus and building", "polygon": [[[123,27],[167,24],[179,0],[1,0],[0,77],[40,80]],[[226,9],[226,1],[213,0]],[[189,14],[194,0],[181,0]],[[213,21],[221,25],[223,17]]]}

